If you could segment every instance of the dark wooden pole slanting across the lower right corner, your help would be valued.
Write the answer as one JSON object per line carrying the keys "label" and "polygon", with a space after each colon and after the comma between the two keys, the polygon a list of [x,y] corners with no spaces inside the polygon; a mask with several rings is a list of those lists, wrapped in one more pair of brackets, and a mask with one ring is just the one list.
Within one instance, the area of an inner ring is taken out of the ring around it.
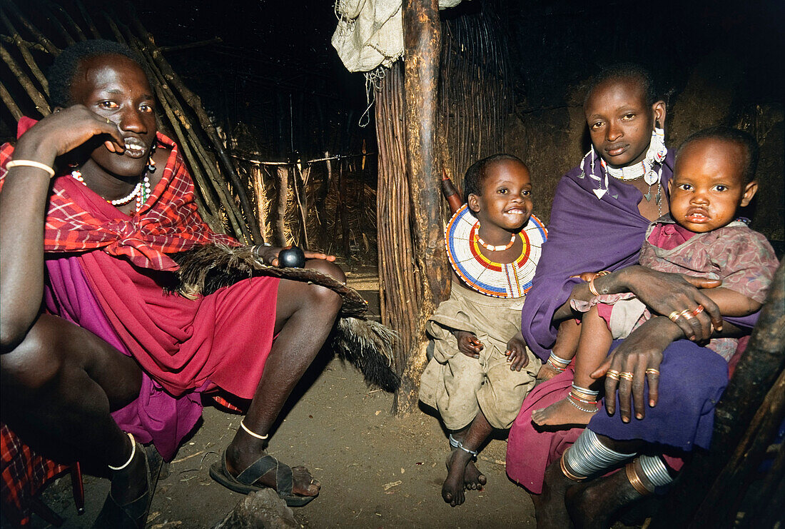
{"label": "dark wooden pole slanting across the lower right corner", "polygon": [[[732,525],[733,520],[727,517],[736,513],[728,513],[728,509],[740,494],[733,476],[739,472],[739,464],[743,465],[747,447],[753,447],[755,437],[763,435],[755,430],[751,435],[746,434],[747,426],[783,368],[785,262],[780,262],[747,351],[717,403],[711,450],[697,452],[685,467],[681,480],[670,491],[668,501],[663,502],[663,512],[652,520],[652,529]],[[750,426],[752,429],[758,427],[756,424]]]}

